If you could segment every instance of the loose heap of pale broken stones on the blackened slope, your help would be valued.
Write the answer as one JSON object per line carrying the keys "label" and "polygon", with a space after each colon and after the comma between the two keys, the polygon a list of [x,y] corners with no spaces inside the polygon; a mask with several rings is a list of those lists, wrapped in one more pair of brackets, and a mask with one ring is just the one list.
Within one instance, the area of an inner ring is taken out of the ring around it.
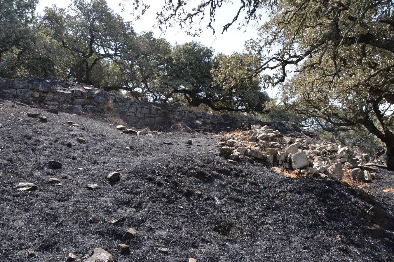
{"label": "loose heap of pale broken stones on the blackened slope", "polygon": [[[342,179],[349,174],[353,180],[371,181],[375,174],[371,165],[384,164],[368,154],[357,154],[348,147],[323,141],[306,132],[284,135],[270,126],[252,125],[251,130],[220,133],[219,156],[234,164],[245,159],[269,167],[292,170],[296,174],[311,173],[320,177]],[[226,136],[227,135],[227,136]]]}

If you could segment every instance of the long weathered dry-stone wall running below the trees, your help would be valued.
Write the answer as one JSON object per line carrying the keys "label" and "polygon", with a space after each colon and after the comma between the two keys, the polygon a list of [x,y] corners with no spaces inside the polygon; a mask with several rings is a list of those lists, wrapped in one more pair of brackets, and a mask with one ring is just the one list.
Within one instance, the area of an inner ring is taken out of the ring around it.
{"label": "long weathered dry-stone wall running below the trees", "polygon": [[143,102],[136,97],[123,97],[93,86],[56,78],[0,78],[0,97],[62,111],[104,114],[119,118],[136,128],[168,130],[173,125],[180,125],[188,131],[230,131],[242,128],[247,123],[249,126],[261,124],[278,130],[290,128],[301,131],[298,126],[288,122],[266,123],[245,115],[209,114],[180,104]]}

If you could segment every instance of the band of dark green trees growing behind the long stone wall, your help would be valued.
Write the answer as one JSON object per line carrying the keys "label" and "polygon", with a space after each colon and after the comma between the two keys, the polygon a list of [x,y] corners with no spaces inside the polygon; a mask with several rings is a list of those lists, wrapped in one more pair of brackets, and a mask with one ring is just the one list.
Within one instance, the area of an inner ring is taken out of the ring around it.
{"label": "band of dark green trees growing behind the long stone wall", "polygon": [[[2,1],[0,72],[20,77],[55,76],[105,90],[126,90],[153,101],[260,112],[265,92],[256,81],[224,90],[212,84],[214,50],[197,42],[171,46],[151,32],[136,33],[105,0],[72,0],[68,8],[36,0]],[[258,97],[258,102],[251,97]]]}

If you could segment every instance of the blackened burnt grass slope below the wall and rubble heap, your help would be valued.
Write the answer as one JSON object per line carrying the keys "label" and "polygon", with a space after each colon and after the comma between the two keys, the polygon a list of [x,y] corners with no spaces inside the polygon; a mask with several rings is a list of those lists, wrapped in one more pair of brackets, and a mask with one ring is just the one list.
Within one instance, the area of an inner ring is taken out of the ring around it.
{"label": "blackened burnt grass slope below the wall and rubble heap", "polygon": [[[259,163],[227,165],[216,137],[119,134],[117,123],[6,101],[0,123],[0,261],[64,261],[96,247],[118,262],[393,261],[394,194],[383,192],[394,188],[393,172],[379,169],[381,180],[364,189],[289,178]],[[63,167],[48,169],[49,160]],[[119,168],[121,179],[108,183]],[[17,191],[19,182],[38,190]],[[130,227],[138,236],[121,240]],[[130,255],[117,254],[121,243]],[[35,256],[24,258],[26,249]]]}

